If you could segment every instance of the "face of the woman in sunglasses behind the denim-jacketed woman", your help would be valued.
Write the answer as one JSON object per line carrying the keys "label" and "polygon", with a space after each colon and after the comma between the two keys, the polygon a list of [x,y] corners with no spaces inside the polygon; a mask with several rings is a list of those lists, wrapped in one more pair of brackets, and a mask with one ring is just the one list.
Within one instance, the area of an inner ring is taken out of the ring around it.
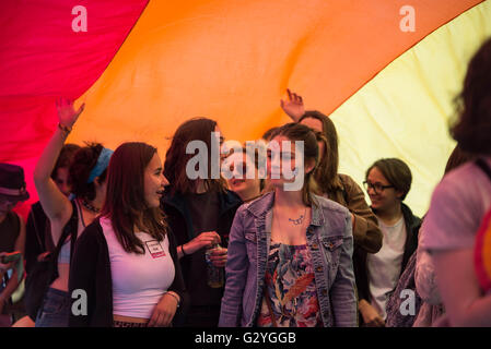
{"label": "face of the woman in sunglasses behind the denim-jacketed woman", "polygon": [[[259,173],[252,159],[244,153],[234,153],[223,161],[223,167],[232,172],[227,179],[229,188],[242,200],[249,200],[260,192]],[[250,197],[249,197],[250,196]]]}

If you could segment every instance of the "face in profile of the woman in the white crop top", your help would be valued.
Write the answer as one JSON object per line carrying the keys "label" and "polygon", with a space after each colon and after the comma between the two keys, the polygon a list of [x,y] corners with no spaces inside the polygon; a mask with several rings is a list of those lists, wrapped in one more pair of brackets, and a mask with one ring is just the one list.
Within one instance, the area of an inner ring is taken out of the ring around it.
{"label": "face in profile of the woman in the white crop top", "polygon": [[168,181],[162,172],[161,158],[155,153],[144,170],[143,186],[145,203],[149,207],[160,206],[165,185],[168,185]]}

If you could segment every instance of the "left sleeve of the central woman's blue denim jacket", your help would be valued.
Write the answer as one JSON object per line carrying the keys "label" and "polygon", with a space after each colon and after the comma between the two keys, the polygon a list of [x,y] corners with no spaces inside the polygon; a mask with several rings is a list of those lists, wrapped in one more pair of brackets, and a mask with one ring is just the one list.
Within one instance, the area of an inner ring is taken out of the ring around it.
{"label": "left sleeve of the central woman's blue denim jacket", "polygon": [[225,266],[225,291],[220,312],[220,327],[238,327],[242,316],[242,301],[247,280],[248,261],[244,237],[245,205],[237,209],[229,240],[229,258]]}

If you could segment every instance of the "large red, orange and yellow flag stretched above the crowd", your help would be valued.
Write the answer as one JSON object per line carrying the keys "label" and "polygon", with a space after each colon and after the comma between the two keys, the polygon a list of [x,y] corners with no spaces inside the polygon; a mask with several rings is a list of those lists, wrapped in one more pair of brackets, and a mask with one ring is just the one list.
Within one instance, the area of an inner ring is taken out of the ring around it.
{"label": "large red, orange and yellow flag stretched above the crowd", "polygon": [[25,168],[32,200],[59,96],[86,104],[69,142],[139,140],[163,156],[197,116],[259,137],[289,120],[290,87],[335,121],[341,172],[360,183],[377,158],[407,161],[422,215],[491,0],[2,1],[0,25],[0,161]]}

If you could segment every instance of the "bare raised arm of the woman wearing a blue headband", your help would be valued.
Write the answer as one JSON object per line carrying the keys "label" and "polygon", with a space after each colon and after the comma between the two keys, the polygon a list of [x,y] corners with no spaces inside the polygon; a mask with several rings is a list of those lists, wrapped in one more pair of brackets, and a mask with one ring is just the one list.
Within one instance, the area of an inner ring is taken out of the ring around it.
{"label": "bare raised arm of the woman wearing a blue headband", "polygon": [[[63,143],[80,113],[83,111],[84,105],[75,111],[71,100],[60,98],[57,100],[56,107],[59,124],[36,164],[36,168],[34,169],[34,184],[36,185],[43,209],[48,218],[51,221],[63,221],[69,219],[72,206],[67,196],[55,184],[50,174],[63,147]],[[58,239],[54,239],[54,241],[56,242]]]}

